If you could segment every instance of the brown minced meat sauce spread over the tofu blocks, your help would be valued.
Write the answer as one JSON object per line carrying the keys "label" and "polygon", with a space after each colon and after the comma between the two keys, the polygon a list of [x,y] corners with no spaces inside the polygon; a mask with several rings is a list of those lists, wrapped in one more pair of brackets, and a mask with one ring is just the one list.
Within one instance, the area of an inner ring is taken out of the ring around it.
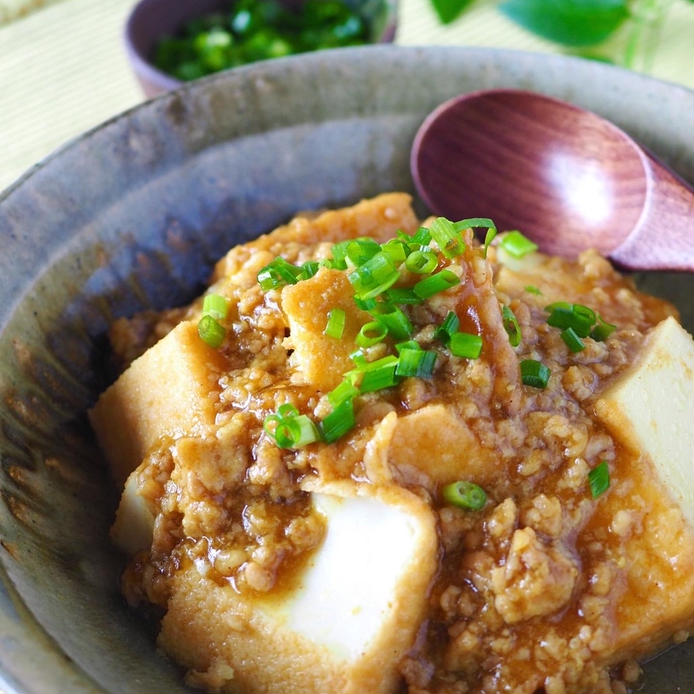
{"label": "brown minced meat sauce spread over the tofu blocks", "polygon": [[[360,205],[343,217],[300,216],[219,262],[212,290],[230,311],[218,348],[227,367],[217,383],[216,443],[162,438],[137,469],[138,493],[155,520],[151,548],[132,557],[124,574],[126,598],[166,610],[172,577],[191,565],[240,594],[289,590],[325,533],[302,490],[306,478],[398,485],[431,506],[439,536],[426,617],[398,664],[400,691],[626,691],[639,675],[631,658],[641,651],[616,646],[615,634],[644,599],[634,571],[648,572],[648,585],[654,576],[670,583],[677,568],[671,548],[688,536],[667,495],[652,491],[648,461],[610,435],[593,403],[634,361],[646,332],[675,309],[637,292],[593,251],[575,261],[533,253],[520,265],[505,264],[499,247],[492,244],[484,257],[467,231],[464,253],[440,255],[437,265],[460,283],[403,307],[411,339],[437,353],[431,378],[405,378],[358,396],[355,426],[333,443],[282,449],[264,430],[269,414],[285,403],[317,421],[330,412],[326,393],[341,382],[354,346],[323,351],[325,312],[351,301],[353,292],[346,272],[329,267],[268,291],[257,274],[277,256],[296,265],[320,261],[343,238],[381,243],[419,226],[406,196]],[[404,272],[396,286],[418,279]],[[584,349],[572,352],[547,323],[545,307],[556,301],[588,306],[616,330],[603,341],[586,338]],[[502,306],[517,319],[516,347]],[[451,311],[460,331],[482,337],[479,358],[453,356],[437,338]],[[117,321],[116,356],[126,366],[200,312],[198,300]],[[359,311],[353,317],[371,320]],[[342,342],[354,329],[347,326]],[[392,342],[366,348],[365,357],[392,353]],[[519,363],[526,359],[549,368],[546,387],[524,385]],[[312,370],[320,377],[305,378]],[[399,424],[403,417],[407,427]],[[603,461],[609,489],[593,498],[588,474]],[[442,487],[456,478],[486,492],[481,510],[443,500]],[[648,534],[657,517],[667,522]],[[639,542],[646,534],[648,542]],[[659,555],[662,548],[669,554]],[[653,645],[669,636],[658,634]],[[234,690],[233,678],[217,675],[191,670],[188,681]]]}

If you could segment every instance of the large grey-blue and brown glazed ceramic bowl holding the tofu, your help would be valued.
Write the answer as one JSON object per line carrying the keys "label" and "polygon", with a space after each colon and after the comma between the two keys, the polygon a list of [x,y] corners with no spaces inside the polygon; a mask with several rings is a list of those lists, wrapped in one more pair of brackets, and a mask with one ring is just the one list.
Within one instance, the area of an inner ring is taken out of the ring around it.
{"label": "large grey-blue and brown glazed ceramic bowl holding the tofu", "polygon": [[[0,195],[0,689],[187,691],[119,594],[116,493],[84,416],[106,384],[109,322],[190,300],[226,249],[297,210],[411,191],[425,115],[492,87],[592,109],[692,180],[684,88],[559,56],[377,46],[186,85]],[[692,275],[637,281],[694,330]],[[646,690],[691,692],[693,659],[690,641],[654,660]]]}

